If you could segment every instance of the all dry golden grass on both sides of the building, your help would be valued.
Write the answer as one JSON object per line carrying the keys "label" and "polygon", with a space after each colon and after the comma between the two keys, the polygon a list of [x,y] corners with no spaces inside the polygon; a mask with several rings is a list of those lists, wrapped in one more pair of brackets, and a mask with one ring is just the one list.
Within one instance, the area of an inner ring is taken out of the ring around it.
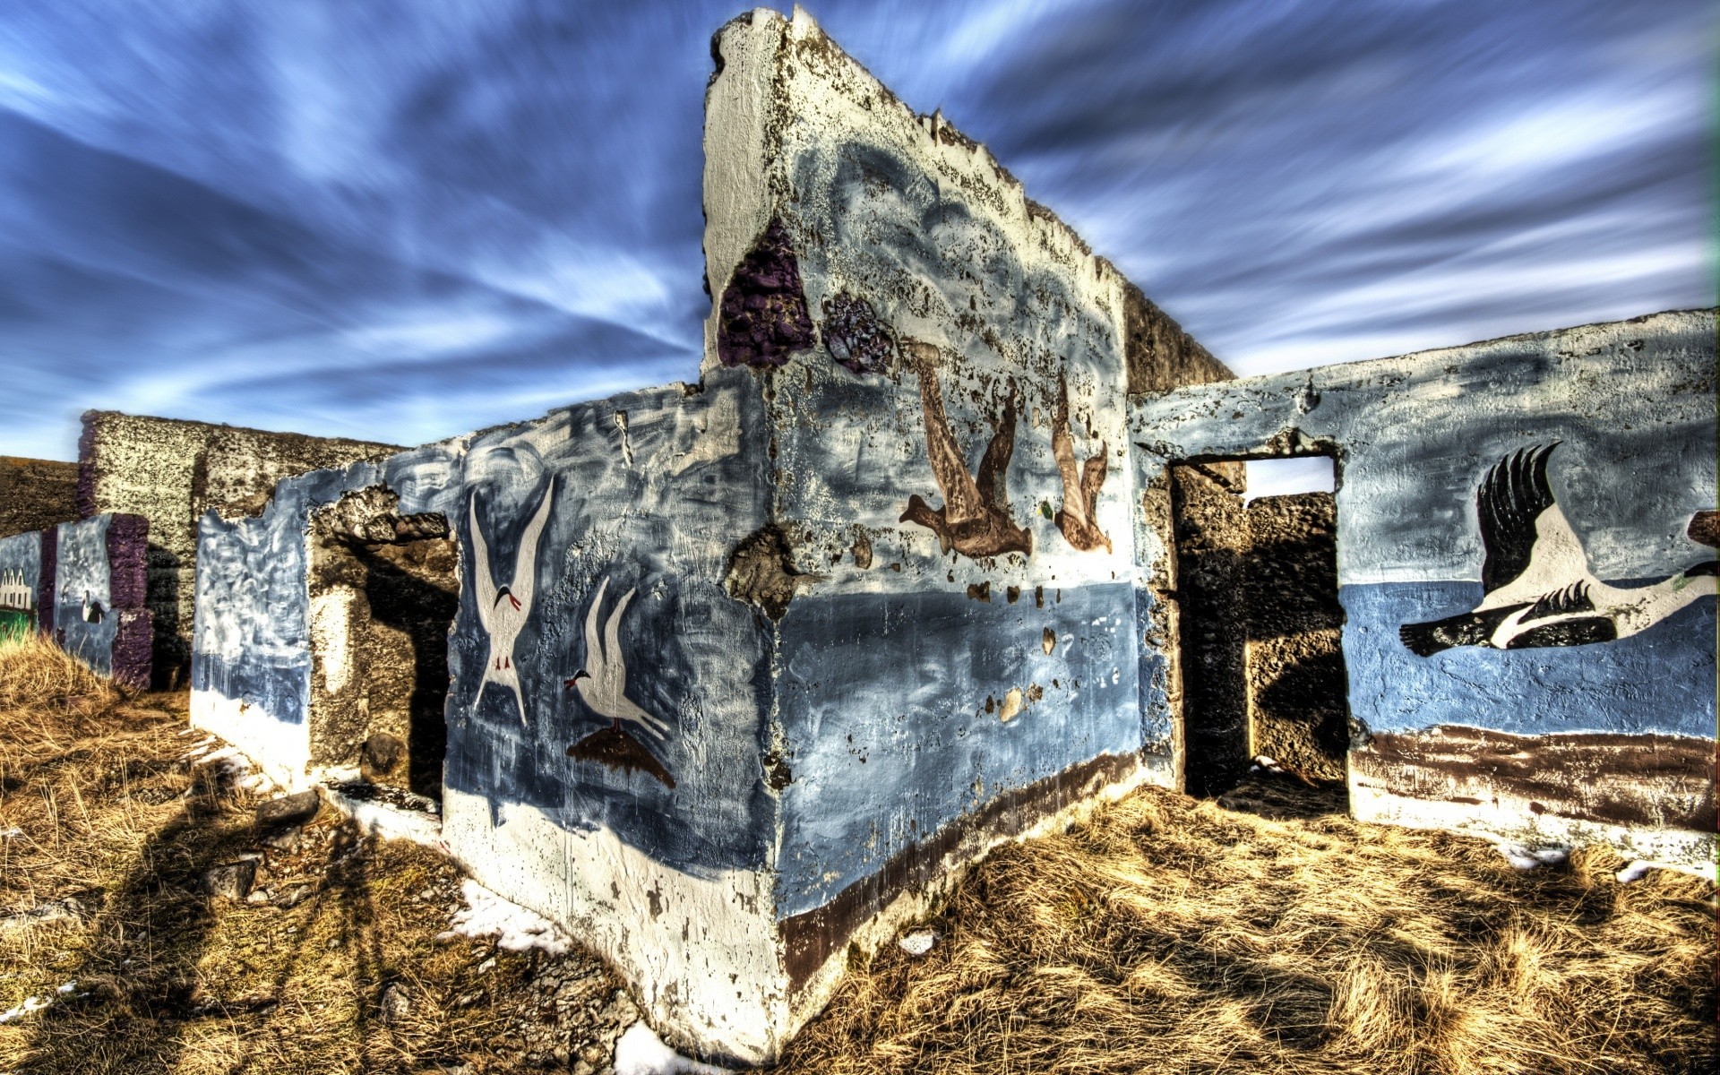
{"label": "all dry golden grass on both sides of the building", "polygon": [[[124,697],[52,647],[0,652],[0,1010],[58,998],[0,1025],[0,1072],[609,1063],[631,1004],[595,960],[439,941],[454,869],[327,810],[265,848],[184,721],[182,697]],[[1605,851],[1517,872],[1338,805],[1278,777],[1225,805],[1149,789],[1003,848],[932,951],[857,968],[781,1070],[1720,1070],[1711,884],[1620,884]],[[201,891],[258,853],[273,900]]]}

